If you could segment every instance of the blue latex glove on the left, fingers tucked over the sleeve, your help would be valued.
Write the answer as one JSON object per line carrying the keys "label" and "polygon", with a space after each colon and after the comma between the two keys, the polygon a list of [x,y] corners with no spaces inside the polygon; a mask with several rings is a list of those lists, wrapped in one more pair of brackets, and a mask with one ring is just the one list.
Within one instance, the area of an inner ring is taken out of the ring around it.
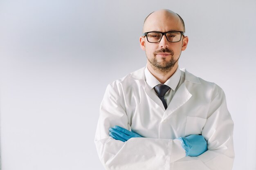
{"label": "blue latex glove on the left, fingers tucked over the sleeve", "polygon": [[113,128],[109,128],[109,135],[119,141],[128,141],[132,137],[142,137],[141,135],[137,134],[136,132],[129,131],[125,128],[120,126],[114,126]]}

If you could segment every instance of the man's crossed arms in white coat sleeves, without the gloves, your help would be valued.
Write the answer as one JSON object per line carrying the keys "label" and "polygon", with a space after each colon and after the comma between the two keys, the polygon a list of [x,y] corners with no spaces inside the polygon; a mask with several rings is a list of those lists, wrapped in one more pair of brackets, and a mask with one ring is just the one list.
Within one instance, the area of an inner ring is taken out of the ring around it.
{"label": "man's crossed arms in white coat sleeves, without the gloves", "polygon": [[234,161],[233,121],[227,111],[225,95],[218,91],[209,106],[209,117],[202,130],[207,151],[186,157],[179,139],[150,137],[115,140],[109,128],[119,125],[131,130],[121,93],[108,86],[101,103],[95,136],[99,158],[106,170],[231,170]]}

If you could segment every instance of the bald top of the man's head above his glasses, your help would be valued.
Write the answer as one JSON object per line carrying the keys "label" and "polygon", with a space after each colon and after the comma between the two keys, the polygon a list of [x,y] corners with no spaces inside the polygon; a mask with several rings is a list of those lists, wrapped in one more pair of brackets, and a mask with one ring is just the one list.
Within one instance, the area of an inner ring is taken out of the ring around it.
{"label": "bald top of the man's head above his glasses", "polygon": [[168,9],[161,9],[150,13],[144,20],[143,32],[157,31],[150,29],[155,28],[155,26],[164,26],[164,22],[174,24],[174,27],[177,28],[175,31],[185,32],[185,24],[180,15]]}

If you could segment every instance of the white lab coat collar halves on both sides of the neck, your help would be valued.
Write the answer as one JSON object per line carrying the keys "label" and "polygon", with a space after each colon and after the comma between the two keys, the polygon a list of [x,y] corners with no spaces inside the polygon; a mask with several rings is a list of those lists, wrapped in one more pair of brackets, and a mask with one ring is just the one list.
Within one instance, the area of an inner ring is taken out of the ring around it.
{"label": "white lab coat collar halves on both sides of the neck", "polygon": [[[132,79],[145,81],[145,74],[144,74],[145,69],[146,69],[146,66],[143,68],[140,68],[139,70],[137,70],[135,72],[130,73],[130,77]],[[182,69],[180,69],[180,71],[185,72],[185,81],[189,81],[189,82],[196,83],[196,84],[201,84],[199,78],[196,77],[195,75],[189,73],[188,71],[186,71],[186,68],[182,68]]]}

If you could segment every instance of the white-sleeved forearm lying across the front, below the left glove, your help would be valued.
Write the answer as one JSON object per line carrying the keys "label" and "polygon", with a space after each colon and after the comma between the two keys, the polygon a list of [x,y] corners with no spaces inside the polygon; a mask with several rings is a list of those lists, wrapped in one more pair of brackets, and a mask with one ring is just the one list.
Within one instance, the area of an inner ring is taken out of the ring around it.
{"label": "white-sleeved forearm lying across the front, below the left glove", "polygon": [[122,142],[110,137],[95,144],[107,170],[170,170],[172,162],[186,156],[177,139],[131,138]]}

